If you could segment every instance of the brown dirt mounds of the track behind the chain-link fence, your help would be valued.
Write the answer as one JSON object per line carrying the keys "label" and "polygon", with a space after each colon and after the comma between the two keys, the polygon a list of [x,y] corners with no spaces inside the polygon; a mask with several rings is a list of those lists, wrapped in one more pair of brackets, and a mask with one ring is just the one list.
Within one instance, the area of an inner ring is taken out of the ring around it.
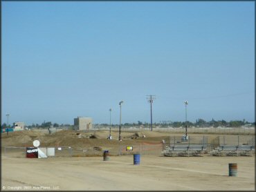
{"label": "brown dirt mounds of the track behind the chain-link fence", "polygon": [[[41,147],[47,146],[71,146],[72,148],[93,148],[93,147],[114,147],[118,146],[118,131],[111,131],[113,140],[107,140],[109,131],[89,131],[84,133],[82,131],[58,131],[47,135],[46,130],[33,131],[15,131],[8,133],[1,133],[2,146],[33,146],[34,140],[39,140]],[[77,135],[81,134],[81,135]],[[95,138],[90,138],[91,135]],[[145,137],[143,137],[145,135]],[[139,144],[143,142],[161,142],[162,140],[169,140],[170,136],[184,135],[184,133],[170,133],[167,131],[122,131],[123,144]],[[208,142],[221,134],[208,133],[190,133],[190,136],[207,136]],[[232,135],[232,134],[231,134]],[[254,134],[250,134],[254,135]],[[80,137],[78,137],[80,136]],[[234,135],[237,137],[237,135]]]}

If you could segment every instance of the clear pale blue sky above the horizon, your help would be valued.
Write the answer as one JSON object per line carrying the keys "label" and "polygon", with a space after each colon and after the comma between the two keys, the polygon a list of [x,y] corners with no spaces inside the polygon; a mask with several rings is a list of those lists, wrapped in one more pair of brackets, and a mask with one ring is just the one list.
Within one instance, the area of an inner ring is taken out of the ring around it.
{"label": "clear pale blue sky above the horizon", "polygon": [[2,1],[1,50],[2,123],[255,122],[254,1]]}

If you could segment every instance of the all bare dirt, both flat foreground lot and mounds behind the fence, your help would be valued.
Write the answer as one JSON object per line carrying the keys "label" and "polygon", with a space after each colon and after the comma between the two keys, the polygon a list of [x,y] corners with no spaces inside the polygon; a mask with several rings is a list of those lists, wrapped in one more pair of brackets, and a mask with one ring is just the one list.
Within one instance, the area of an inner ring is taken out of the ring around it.
{"label": "all bare dirt, both flat foreground lot and mounds behind the fence", "polygon": [[[92,135],[94,137],[90,138]],[[42,131],[17,131],[8,135],[2,133],[1,145],[2,147],[33,146],[33,140],[39,140],[41,147],[71,146],[77,149],[99,147],[116,150],[120,143],[118,131],[111,132],[113,140],[107,140],[108,135],[109,131],[90,131],[89,133],[59,131],[51,135]],[[160,144],[161,140],[168,140],[174,135],[183,135],[183,133],[124,131],[122,144],[134,146],[147,142]],[[193,133],[190,135],[208,136],[208,142],[218,136],[218,134]],[[234,136],[237,137],[237,135]],[[133,155],[111,155],[109,161],[103,161],[102,151],[99,154],[100,156],[94,157],[77,155],[77,157],[28,159],[24,155],[15,157],[2,151],[1,190],[255,191],[255,155],[164,157],[143,153],[140,154],[140,164],[134,165]],[[228,163],[237,163],[237,177],[228,176]]]}

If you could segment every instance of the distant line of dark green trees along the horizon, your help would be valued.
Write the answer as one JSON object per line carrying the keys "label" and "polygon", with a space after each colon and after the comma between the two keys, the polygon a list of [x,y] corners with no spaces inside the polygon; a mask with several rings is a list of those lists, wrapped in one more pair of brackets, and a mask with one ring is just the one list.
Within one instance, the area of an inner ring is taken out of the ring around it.
{"label": "distant line of dark green trees along the horizon", "polygon": [[[197,126],[197,127],[218,127],[218,126],[230,126],[230,127],[239,127],[239,126],[255,126],[255,122],[247,122],[245,119],[243,121],[235,120],[226,122],[225,120],[214,120],[212,119],[210,122],[206,122],[204,119],[196,119],[196,122],[172,122],[172,121],[161,121],[158,123],[154,123],[154,126],[172,126],[172,127],[185,127],[185,125],[188,124],[188,126]],[[95,124],[98,126],[109,126],[109,124]],[[113,126],[118,126],[119,124],[113,124]],[[42,124],[31,124],[27,125],[28,128],[50,128],[53,127],[73,127],[71,124],[57,124],[52,122],[42,122]],[[137,123],[125,123],[122,124],[122,126],[150,126],[148,122],[140,122]],[[2,128],[6,128],[6,123],[1,125]],[[10,125],[9,125],[10,127]]]}

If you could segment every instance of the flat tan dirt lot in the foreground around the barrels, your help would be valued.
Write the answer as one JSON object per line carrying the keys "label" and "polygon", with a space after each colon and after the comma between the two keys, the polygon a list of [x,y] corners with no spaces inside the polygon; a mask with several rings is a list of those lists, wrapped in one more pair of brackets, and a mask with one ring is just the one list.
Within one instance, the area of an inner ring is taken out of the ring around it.
{"label": "flat tan dirt lot in the foreground around the barrels", "polygon": [[[238,164],[228,177],[228,163]],[[2,157],[2,190],[255,190],[255,157]],[[26,188],[27,187],[27,188]],[[5,188],[5,189],[3,189]]]}

